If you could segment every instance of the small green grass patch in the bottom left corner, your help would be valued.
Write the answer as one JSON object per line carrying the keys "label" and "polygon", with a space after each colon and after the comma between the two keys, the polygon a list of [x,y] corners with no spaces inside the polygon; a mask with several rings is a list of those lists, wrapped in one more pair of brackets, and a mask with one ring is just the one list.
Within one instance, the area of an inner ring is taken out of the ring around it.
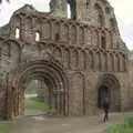
{"label": "small green grass patch in the bottom left corner", "polygon": [[6,124],[0,124],[0,133],[11,133],[11,124],[6,123]]}

